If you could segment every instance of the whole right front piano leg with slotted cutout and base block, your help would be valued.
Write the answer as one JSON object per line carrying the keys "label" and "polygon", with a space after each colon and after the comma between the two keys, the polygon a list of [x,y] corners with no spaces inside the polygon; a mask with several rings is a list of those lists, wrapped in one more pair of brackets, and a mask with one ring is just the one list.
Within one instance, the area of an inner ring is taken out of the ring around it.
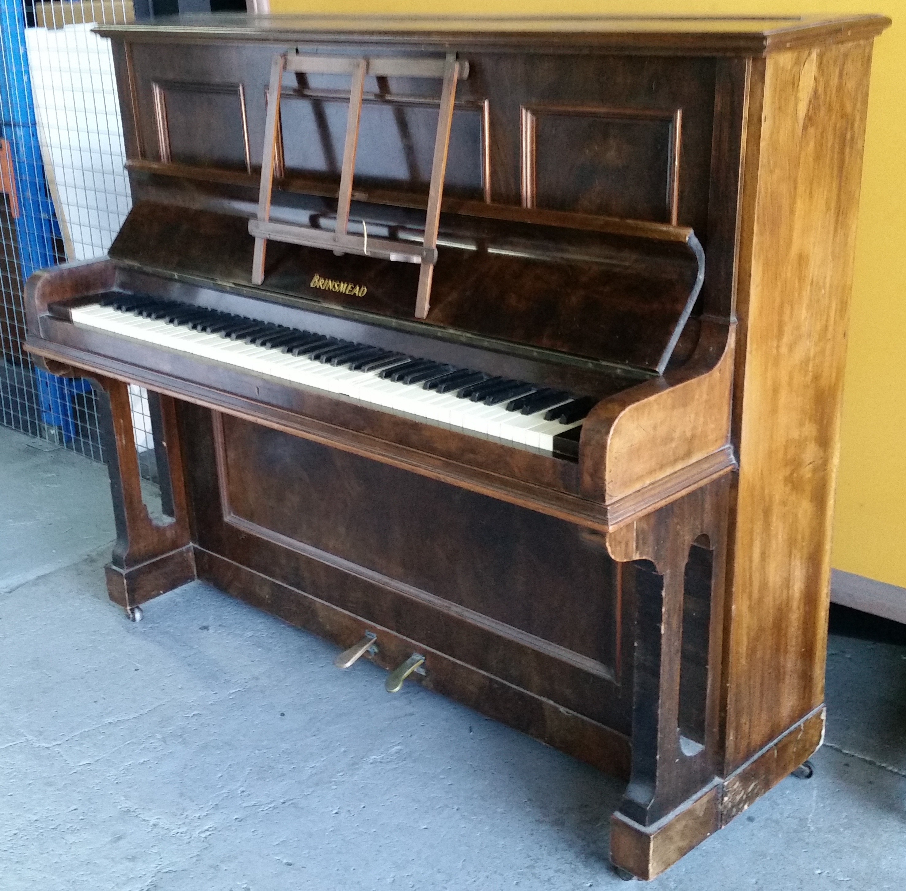
{"label": "whole right front piano leg with slotted cutout and base block", "polygon": [[615,867],[653,878],[719,828],[719,695],[729,477],[607,538],[636,601],[631,779]]}

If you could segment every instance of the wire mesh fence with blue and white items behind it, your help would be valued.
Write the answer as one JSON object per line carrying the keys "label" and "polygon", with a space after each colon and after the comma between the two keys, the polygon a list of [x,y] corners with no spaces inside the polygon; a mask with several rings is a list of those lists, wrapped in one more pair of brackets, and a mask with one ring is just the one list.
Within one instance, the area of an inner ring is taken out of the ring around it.
{"label": "wire mesh fence with blue and white items behind it", "polygon": [[[0,424],[102,460],[87,380],[49,375],[25,352],[24,283],[36,269],[106,254],[130,209],[110,43],[129,0],[0,0]],[[140,457],[147,394],[130,389]],[[152,476],[154,462],[140,462]]]}

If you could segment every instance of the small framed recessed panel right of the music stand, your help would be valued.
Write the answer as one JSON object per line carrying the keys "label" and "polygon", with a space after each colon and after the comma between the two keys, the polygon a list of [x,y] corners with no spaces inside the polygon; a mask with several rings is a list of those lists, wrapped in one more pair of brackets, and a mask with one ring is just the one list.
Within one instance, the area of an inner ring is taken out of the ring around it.
{"label": "small framed recessed panel right of the music stand", "polygon": [[526,206],[673,222],[679,115],[524,109]]}

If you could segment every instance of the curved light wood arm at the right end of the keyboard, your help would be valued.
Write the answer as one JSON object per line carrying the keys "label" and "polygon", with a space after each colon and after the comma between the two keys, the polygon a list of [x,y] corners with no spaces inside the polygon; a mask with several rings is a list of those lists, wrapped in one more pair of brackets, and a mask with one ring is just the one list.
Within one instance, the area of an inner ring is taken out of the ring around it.
{"label": "curved light wood arm at the right end of the keyboard", "polygon": [[734,328],[702,323],[693,358],[624,390],[583,426],[582,493],[612,503],[726,446]]}

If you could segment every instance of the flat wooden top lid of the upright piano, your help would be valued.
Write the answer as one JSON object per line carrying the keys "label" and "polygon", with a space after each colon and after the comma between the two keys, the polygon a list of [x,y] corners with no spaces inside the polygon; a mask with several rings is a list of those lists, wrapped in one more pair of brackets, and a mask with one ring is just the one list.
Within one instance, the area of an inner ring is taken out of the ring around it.
{"label": "flat wooden top lid of the upright piano", "polygon": [[591,46],[617,53],[764,55],[814,43],[866,40],[891,24],[883,15],[788,16],[457,16],[457,15],[253,15],[188,14],[153,23],[103,24],[105,37],[132,41],[174,37],[197,40],[295,40],[405,43],[450,41],[458,47],[496,43],[533,48]]}

